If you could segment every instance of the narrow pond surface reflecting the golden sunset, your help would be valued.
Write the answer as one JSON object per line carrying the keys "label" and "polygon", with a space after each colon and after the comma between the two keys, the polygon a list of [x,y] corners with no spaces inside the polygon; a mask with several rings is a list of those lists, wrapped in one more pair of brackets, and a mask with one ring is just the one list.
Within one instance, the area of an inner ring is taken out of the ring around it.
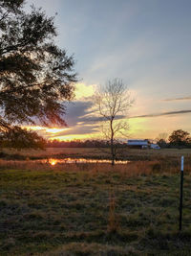
{"label": "narrow pond surface reflecting the golden sunset", "polygon": [[[64,159],[43,159],[42,163],[49,163],[50,165],[56,164],[83,164],[83,163],[111,163],[111,160],[108,159],[86,159],[86,158],[64,158]],[[129,161],[116,161],[116,164],[127,164]]]}

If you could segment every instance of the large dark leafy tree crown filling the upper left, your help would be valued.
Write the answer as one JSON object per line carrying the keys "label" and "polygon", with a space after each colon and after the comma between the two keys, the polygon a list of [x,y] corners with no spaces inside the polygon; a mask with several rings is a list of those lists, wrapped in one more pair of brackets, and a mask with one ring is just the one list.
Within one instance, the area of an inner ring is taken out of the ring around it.
{"label": "large dark leafy tree crown filling the upper left", "polygon": [[66,125],[64,101],[74,97],[74,58],[53,42],[53,17],[24,0],[0,0],[0,128]]}

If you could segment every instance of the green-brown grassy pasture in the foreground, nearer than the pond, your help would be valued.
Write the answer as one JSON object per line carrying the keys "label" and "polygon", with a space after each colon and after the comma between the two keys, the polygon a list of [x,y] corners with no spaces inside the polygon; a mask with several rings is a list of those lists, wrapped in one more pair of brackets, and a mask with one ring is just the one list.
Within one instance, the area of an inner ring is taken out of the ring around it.
{"label": "green-brown grassy pasture in the foreground, nearer than the pond", "polygon": [[0,255],[190,255],[188,165],[181,232],[177,165],[0,166]]}

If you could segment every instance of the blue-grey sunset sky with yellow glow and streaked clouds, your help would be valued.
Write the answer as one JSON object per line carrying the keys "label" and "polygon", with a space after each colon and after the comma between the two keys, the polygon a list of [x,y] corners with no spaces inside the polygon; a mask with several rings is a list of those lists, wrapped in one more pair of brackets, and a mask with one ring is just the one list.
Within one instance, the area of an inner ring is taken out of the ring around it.
{"label": "blue-grey sunset sky with yellow glow and streaked clouds", "polygon": [[74,103],[68,128],[36,127],[46,138],[101,137],[96,88],[120,78],[134,104],[129,138],[155,139],[182,128],[191,132],[190,0],[28,0],[54,15],[56,44],[74,55]]}

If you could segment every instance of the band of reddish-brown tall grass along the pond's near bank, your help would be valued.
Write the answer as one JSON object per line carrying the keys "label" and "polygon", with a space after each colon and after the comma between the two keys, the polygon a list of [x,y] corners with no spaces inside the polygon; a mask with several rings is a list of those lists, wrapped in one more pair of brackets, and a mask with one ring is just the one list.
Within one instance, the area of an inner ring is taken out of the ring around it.
{"label": "band of reddish-brown tall grass along the pond's near bank", "polygon": [[[51,165],[47,160],[44,162],[34,160],[0,160],[0,170],[33,170],[33,171],[88,171],[89,175],[96,173],[118,173],[121,177],[152,175],[152,174],[176,174],[180,171],[180,159],[176,160],[153,160],[134,161],[127,164],[111,166],[109,163],[57,163]],[[191,173],[191,161],[186,159],[184,170],[186,174]]]}

